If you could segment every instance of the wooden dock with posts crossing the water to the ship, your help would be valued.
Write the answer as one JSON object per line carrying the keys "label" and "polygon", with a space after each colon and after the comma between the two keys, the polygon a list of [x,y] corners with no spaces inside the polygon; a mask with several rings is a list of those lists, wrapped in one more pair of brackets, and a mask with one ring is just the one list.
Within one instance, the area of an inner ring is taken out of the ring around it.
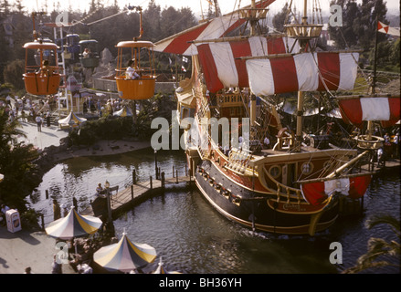
{"label": "wooden dock with posts crossing the water to the ship", "polygon": [[[164,179],[164,173],[162,173],[160,180],[153,180],[153,177],[151,176],[149,181],[134,181],[130,187],[125,188],[122,191],[119,191],[118,186],[111,187],[108,190],[110,196],[109,208],[111,212],[111,217],[115,218],[122,211],[132,208],[132,206],[142,203],[155,195],[164,193],[166,186],[168,188],[183,188],[192,181],[193,178],[190,176],[175,176],[173,178]],[[184,186],[183,183],[185,183]],[[92,205],[90,205],[90,207],[88,207],[86,210],[80,212],[80,214],[99,217],[106,215],[108,212],[108,202],[106,202],[107,195],[108,194],[106,190],[101,195],[102,197],[104,197],[103,201],[106,204],[104,208],[102,208],[103,214],[99,214],[97,210],[93,210],[94,208],[92,208]]]}

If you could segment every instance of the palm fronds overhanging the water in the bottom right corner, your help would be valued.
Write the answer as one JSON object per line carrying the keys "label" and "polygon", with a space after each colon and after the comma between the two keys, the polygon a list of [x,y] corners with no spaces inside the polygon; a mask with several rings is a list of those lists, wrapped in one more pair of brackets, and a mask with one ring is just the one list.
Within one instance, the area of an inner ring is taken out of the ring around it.
{"label": "palm fronds overhanging the water in the bottom right corner", "polygon": [[[398,242],[392,240],[386,242],[383,238],[372,237],[367,243],[368,251],[366,254],[361,255],[357,261],[356,265],[349,267],[343,271],[344,274],[354,274],[362,272],[368,268],[378,268],[383,266],[400,266],[399,256],[400,256],[400,221],[390,215],[375,215],[370,220],[367,220],[365,225],[368,229],[375,227],[378,224],[387,224],[390,226]],[[393,264],[386,258],[397,258],[398,264]]]}

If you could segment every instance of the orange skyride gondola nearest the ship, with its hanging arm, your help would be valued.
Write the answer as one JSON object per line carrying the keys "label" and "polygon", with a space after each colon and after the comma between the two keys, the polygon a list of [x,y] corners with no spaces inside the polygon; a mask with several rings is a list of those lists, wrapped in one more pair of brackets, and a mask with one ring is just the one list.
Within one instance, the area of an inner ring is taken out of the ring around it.
{"label": "orange skyride gondola nearest the ship, with its hanging arm", "polygon": [[[154,95],[154,86],[156,75],[154,69],[153,43],[150,41],[140,41],[142,36],[142,8],[134,7],[140,12],[140,36],[134,37],[132,41],[122,41],[117,44],[118,57],[116,68],[116,83],[121,99],[150,99]],[[144,52],[142,52],[142,49]],[[131,55],[127,51],[131,51]],[[141,54],[148,52],[149,63],[147,67],[141,62]],[[126,55],[124,55],[126,54]],[[127,56],[130,56],[128,59]],[[125,57],[125,59],[124,59]],[[133,68],[136,71],[136,77],[127,76],[128,62],[133,61]]]}

